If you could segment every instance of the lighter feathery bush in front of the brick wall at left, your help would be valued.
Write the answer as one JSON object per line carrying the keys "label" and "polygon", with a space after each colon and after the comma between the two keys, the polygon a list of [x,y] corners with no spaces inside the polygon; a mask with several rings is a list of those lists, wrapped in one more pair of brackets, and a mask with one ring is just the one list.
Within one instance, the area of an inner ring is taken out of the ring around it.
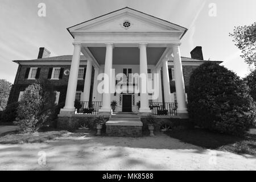
{"label": "lighter feathery bush in front of the brick wall at left", "polygon": [[46,80],[28,86],[18,106],[16,118],[24,133],[38,131],[49,119],[55,106],[55,92]]}

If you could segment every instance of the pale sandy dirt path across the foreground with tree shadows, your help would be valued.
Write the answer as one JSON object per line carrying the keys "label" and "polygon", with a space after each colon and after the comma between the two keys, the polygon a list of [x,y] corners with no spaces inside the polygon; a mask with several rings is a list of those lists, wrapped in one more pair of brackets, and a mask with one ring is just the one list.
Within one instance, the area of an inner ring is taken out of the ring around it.
{"label": "pale sandy dirt path across the foreground with tree shadows", "polygon": [[[40,160],[44,152],[46,165]],[[205,150],[164,134],[142,138],[65,137],[46,143],[0,144],[0,170],[20,169],[255,170],[256,159]]]}

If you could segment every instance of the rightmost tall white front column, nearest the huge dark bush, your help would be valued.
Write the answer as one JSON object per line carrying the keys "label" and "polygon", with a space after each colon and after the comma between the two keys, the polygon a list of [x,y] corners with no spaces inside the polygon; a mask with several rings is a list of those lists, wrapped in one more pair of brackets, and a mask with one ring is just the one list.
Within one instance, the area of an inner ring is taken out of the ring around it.
{"label": "rightmost tall white front column, nearest the huge dark bush", "polygon": [[177,114],[188,113],[185,101],[185,84],[180,57],[180,48],[177,45],[172,47],[174,53],[175,88],[177,97]]}

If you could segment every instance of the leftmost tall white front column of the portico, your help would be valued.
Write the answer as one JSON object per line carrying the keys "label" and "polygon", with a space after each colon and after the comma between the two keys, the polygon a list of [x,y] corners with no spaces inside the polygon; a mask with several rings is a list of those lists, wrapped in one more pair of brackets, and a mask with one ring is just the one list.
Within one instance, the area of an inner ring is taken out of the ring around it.
{"label": "leftmost tall white front column of the portico", "polygon": [[71,62],[71,68],[68,78],[68,89],[67,96],[65,101],[65,106],[61,109],[63,112],[74,112],[75,113],[75,97],[76,97],[76,86],[77,86],[77,77],[79,73],[79,64],[80,64],[80,53],[81,53],[81,43],[73,43],[74,52]]}

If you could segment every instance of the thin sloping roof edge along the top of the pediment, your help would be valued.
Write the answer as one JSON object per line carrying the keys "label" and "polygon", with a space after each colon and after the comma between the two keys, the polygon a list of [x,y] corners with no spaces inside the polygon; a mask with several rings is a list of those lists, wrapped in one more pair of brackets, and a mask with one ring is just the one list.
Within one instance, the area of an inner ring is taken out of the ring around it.
{"label": "thin sloping roof edge along the top of the pediment", "polygon": [[[118,9],[118,10],[112,11],[112,12],[110,12],[110,13],[106,13],[106,14],[104,14],[104,15],[97,16],[96,18],[92,18],[92,19],[86,20],[86,21],[84,21],[84,22],[81,22],[81,23],[75,24],[74,26],[68,27],[68,28],[67,28],[67,30],[68,30],[69,34],[71,34],[71,32],[69,31],[69,28],[72,28],[72,27],[78,26],[78,25],[80,25],[80,24],[82,24],[82,23],[86,23],[86,22],[89,22],[89,21],[94,20],[94,19],[97,19],[97,18],[101,18],[102,16],[106,16],[106,15],[109,15],[109,14],[115,13],[115,12],[117,12],[117,11],[123,10],[123,9],[130,9],[130,10],[133,10],[133,11],[137,11],[137,12],[142,13],[142,14],[144,14],[144,15],[151,16],[151,17],[153,17],[153,18],[156,18],[156,19],[162,20],[162,21],[164,21],[164,22],[174,24],[175,26],[178,26],[178,27],[180,27],[180,28],[184,28],[184,29],[185,29],[185,31],[184,31],[184,33],[181,35],[180,39],[181,39],[181,38],[183,38],[183,36],[185,35],[185,33],[188,31],[188,28],[185,28],[185,27],[180,26],[180,25],[178,25],[178,24],[175,24],[175,23],[169,22],[169,21],[167,21],[167,20],[164,20],[164,19],[158,18],[158,17],[156,17],[156,16],[152,16],[152,15],[150,15],[150,14],[143,13],[142,11],[138,11],[138,10],[132,9],[132,8],[130,8],[130,7],[127,7],[127,6],[126,6],[126,7],[121,8],[121,9]],[[72,34],[71,34],[71,36],[74,38],[74,36],[73,36]]]}

